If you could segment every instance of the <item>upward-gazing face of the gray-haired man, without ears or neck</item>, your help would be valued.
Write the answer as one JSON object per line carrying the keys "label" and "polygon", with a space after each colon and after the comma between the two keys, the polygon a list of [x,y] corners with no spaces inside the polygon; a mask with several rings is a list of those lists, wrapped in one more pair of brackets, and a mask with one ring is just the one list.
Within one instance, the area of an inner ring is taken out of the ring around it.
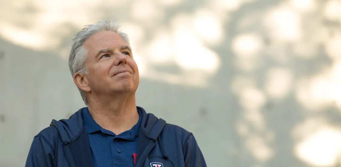
{"label": "upward-gazing face of the gray-haired man, without ears or neck", "polygon": [[135,93],[138,68],[130,46],[115,32],[102,31],[84,43],[88,51],[85,82],[94,94]]}

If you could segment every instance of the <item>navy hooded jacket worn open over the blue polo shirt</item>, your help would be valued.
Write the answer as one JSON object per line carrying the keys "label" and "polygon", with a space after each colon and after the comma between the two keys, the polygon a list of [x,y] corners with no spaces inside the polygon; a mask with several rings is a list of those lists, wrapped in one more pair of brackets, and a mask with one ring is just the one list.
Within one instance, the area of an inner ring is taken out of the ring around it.
{"label": "navy hooded jacket worn open over the blue polo shirt", "polygon": [[[192,133],[142,112],[135,167],[206,167]],[[69,119],[52,120],[33,139],[25,167],[93,167],[82,112]]]}

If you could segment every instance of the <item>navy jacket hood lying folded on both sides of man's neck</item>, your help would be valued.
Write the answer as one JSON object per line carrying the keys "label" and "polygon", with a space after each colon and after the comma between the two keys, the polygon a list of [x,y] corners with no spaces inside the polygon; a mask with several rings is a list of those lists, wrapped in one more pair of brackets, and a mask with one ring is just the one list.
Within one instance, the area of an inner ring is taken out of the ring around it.
{"label": "navy jacket hood lying folded on both sides of man's neck", "polygon": [[[142,113],[140,131],[149,139],[157,141],[166,121],[158,119],[151,113],[146,113],[142,107],[136,107]],[[56,126],[63,143],[70,143],[78,138],[84,130],[82,113],[85,108],[79,109],[69,119],[52,120],[50,126]]]}

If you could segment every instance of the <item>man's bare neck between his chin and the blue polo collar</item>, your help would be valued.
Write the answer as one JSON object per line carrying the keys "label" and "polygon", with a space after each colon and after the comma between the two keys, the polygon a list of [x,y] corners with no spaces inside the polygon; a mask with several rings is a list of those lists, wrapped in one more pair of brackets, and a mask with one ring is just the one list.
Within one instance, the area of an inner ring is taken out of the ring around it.
{"label": "man's bare neck between his chin and the blue polo collar", "polygon": [[104,99],[110,100],[90,98],[88,106],[90,115],[101,127],[118,135],[131,129],[138,122],[135,94]]}

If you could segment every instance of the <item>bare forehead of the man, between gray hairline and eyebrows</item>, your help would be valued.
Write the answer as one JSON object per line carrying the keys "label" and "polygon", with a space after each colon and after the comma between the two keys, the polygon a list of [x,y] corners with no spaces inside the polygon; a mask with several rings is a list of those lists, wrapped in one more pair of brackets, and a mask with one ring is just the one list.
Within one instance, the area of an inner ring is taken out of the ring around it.
{"label": "bare forehead of the man, between gray hairline and eyebrows", "polygon": [[115,48],[121,45],[127,45],[122,37],[113,31],[101,31],[95,33],[83,44],[88,52],[97,52],[104,48]]}

